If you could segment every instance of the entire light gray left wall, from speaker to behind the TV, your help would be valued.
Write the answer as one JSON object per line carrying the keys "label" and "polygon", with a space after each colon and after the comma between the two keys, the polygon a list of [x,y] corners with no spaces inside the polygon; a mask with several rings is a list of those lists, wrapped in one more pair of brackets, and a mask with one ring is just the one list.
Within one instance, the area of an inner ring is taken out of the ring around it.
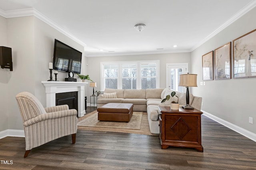
{"label": "entire light gray left wall, from speaker to behind the TV", "polygon": [[[50,78],[48,63],[52,62],[54,39],[81,52],[84,52],[84,47],[34,16],[7,19],[0,17],[0,30],[6,33],[0,31],[0,42],[12,47],[13,61],[13,71],[0,70],[0,131],[23,130],[15,96],[28,91],[46,107],[46,94],[41,81]],[[82,73],[86,69],[85,61],[85,57],[82,57]],[[64,81],[65,77],[66,72],[58,72],[58,80]]]}

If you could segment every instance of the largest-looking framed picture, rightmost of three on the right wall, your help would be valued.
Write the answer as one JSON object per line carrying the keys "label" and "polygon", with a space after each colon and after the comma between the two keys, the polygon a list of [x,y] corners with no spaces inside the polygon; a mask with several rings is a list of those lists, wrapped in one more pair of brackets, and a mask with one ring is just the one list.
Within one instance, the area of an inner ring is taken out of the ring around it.
{"label": "largest-looking framed picture, rightmost of three on the right wall", "polygon": [[234,78],[256,77],[256,29],[233,40]]}

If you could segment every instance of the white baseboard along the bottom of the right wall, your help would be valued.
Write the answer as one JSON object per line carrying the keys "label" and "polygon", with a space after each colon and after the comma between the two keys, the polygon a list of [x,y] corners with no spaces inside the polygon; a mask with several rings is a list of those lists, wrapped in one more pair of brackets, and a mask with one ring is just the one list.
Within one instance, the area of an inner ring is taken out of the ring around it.
{"label": "white baseboard along the bottom of the right wall", "polygon": [[212,120],[214,120],[214,121],[224,125],[225,127],[228,127],[230,129],[232,129],[232,130],[242,134],[243,136],[253,140],[254,142],[256,142],[256,134],[254,134],[254,133],[252,133],[252,132],[250,132],[250,131],[248,131],[248,130],[246,130],[244,128],[238,127],[238,126],[236,126],[236,125],[234,125],[232,123],[229,123],[228,121],[220,119],[220,118],[218,118],[218,117],[216,117],[216,116],[214,116],[214,115],[212,115],[210,113],[207,113],[206,111],[202,111],[202,112],[204,113],[204,115],[206,117],[209,117],[210,119],[212,119]]}

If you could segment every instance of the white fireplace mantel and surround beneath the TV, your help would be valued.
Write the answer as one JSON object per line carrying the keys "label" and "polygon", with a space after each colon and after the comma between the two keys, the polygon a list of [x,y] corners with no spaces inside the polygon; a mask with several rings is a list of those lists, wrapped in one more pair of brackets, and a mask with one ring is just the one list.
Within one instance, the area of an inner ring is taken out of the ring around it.
{"label": "white fireplace mantel and surround beneath the TV", "polygon": [[78,91],[78,117],[84,116],[84,86],[88,82],[42,81],[46,92],[46,107],[56,105],[56,93]]}

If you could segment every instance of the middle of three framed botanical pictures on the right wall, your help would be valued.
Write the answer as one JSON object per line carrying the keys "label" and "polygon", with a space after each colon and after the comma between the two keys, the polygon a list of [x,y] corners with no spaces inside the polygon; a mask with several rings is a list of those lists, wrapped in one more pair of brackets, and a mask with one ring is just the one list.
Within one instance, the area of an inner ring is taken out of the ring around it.
{"label": "middle of three framed botanical pictures on the right wall", "polygon": [[231,79],[231,42],[214,49],[215,80]]}

